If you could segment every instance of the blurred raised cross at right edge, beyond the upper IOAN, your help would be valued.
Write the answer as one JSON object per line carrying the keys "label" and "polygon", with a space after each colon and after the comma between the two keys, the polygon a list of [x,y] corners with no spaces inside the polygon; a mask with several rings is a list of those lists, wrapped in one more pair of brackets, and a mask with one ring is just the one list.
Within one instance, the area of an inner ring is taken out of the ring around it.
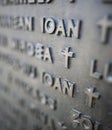
{"label": "blurred raised cross at right edge, beyond the upper IOAN", "polygon": [[102,28],[101,42],[106,42],[107,33],[109,29],[112,29],[112,19],[109,16],[105,16],[101,21],[99,21],[98,26]]}

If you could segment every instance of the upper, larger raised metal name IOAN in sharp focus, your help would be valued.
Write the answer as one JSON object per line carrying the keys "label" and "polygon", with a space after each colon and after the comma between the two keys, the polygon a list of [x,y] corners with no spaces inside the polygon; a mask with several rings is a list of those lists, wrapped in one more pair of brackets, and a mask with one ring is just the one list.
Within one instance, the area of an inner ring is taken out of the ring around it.
{"label": "upper, larger raised metal name IOAN in sharp focus", "polygon": [[62,35],[64,37],[80,36],[81,21],[74,19],[54,19],[52,17],[43,17],[41,19],[41,32],[48,34]]}

